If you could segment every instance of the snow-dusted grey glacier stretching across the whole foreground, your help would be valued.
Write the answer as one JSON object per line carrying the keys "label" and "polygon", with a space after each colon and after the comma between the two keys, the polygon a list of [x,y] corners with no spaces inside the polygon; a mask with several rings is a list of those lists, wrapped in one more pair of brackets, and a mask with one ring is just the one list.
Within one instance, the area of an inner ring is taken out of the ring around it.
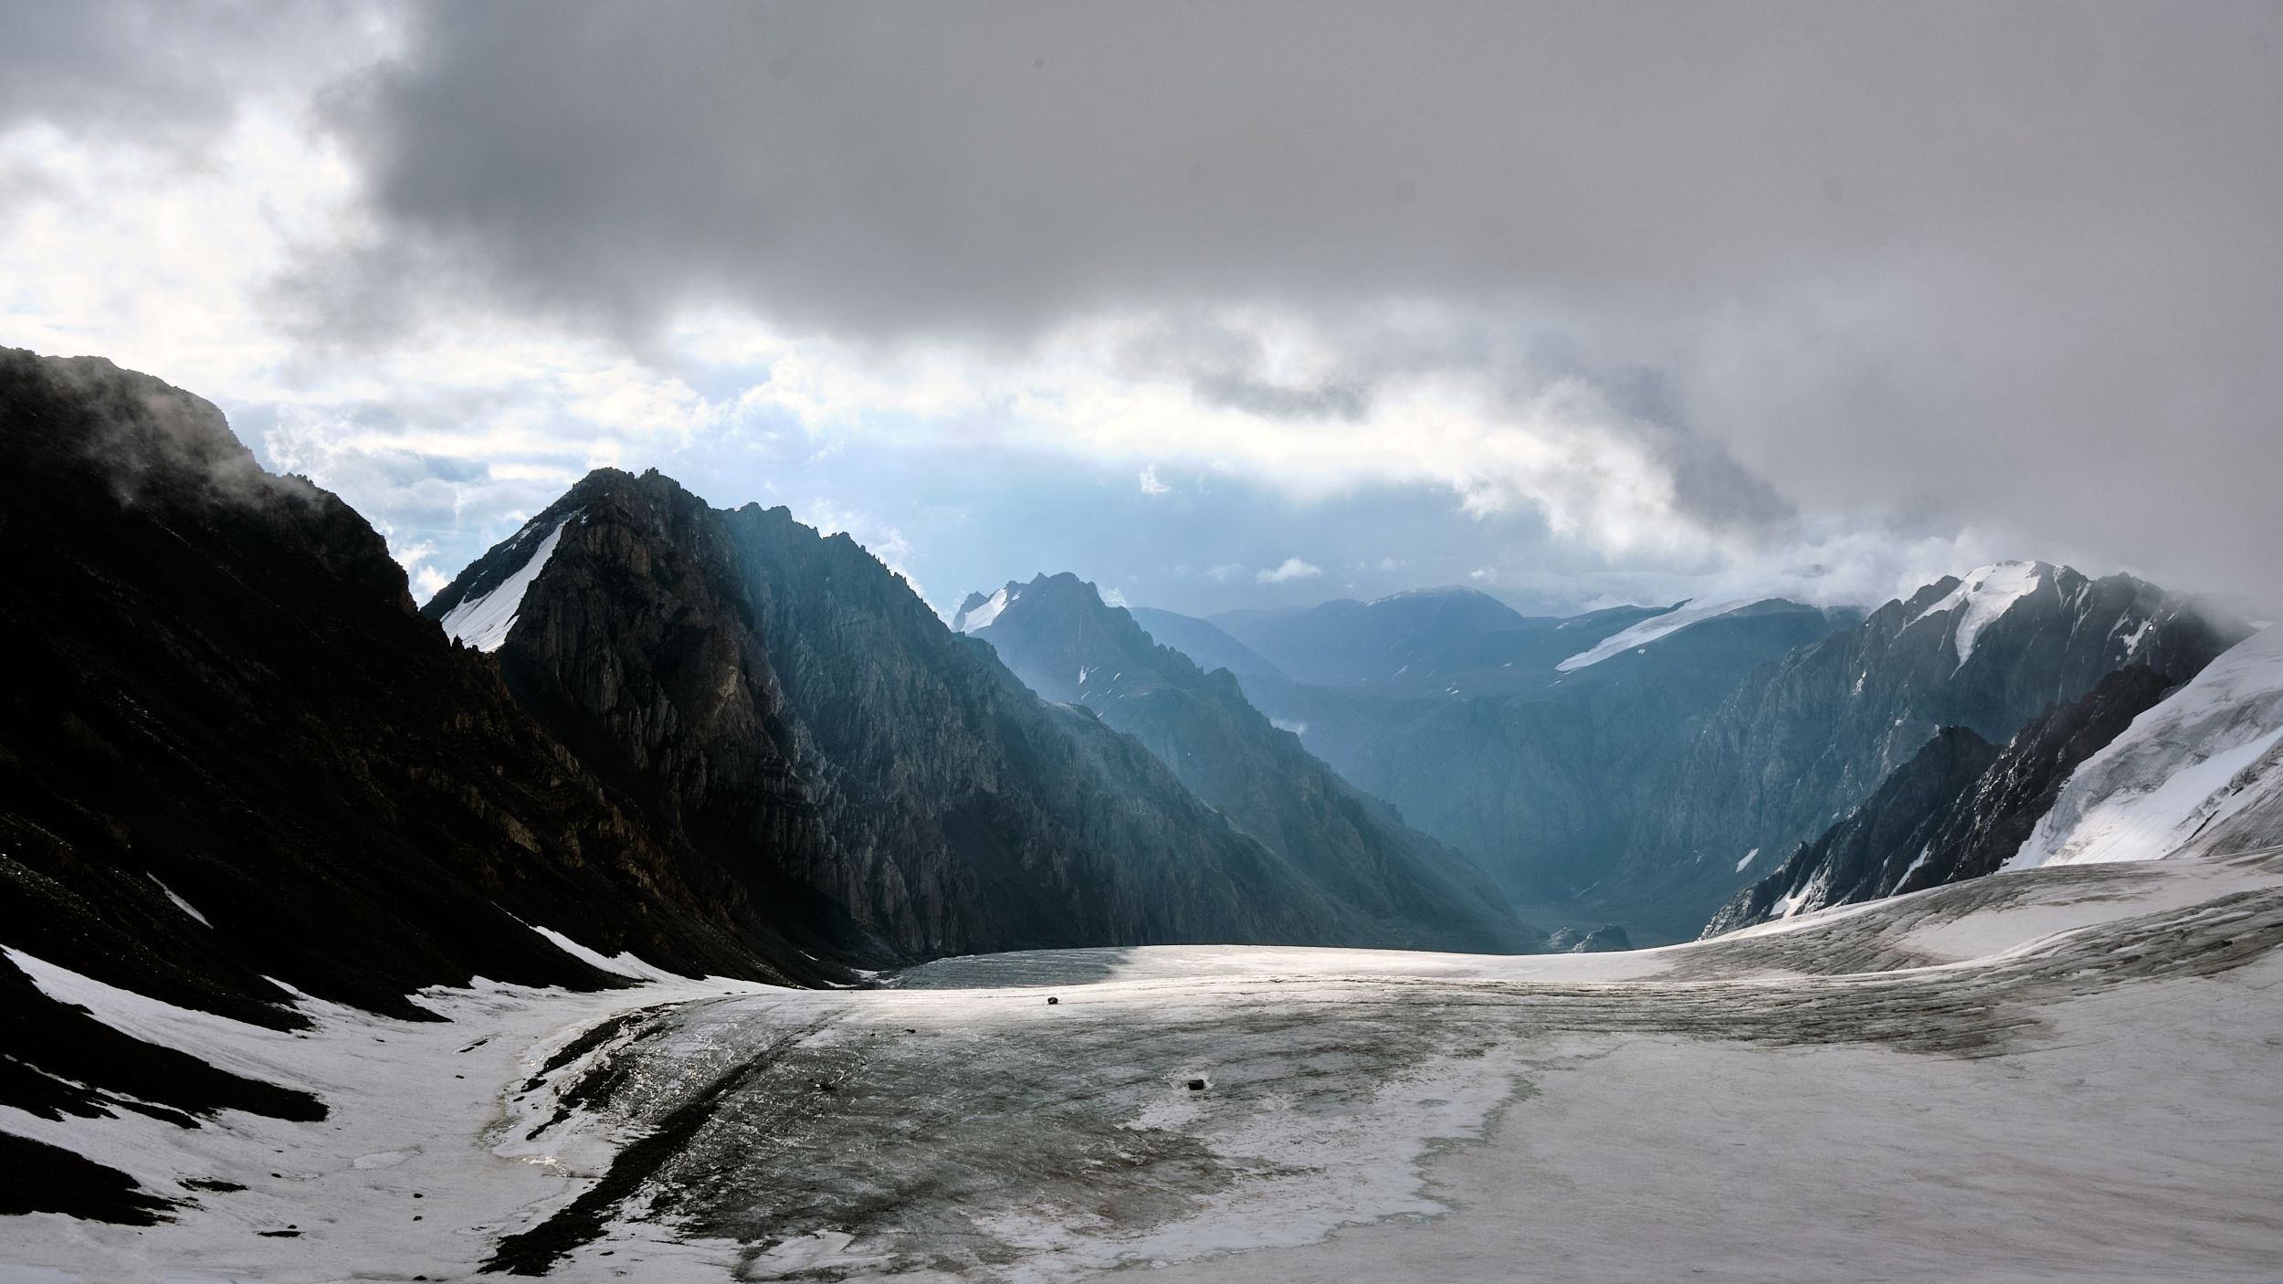
{"label": "snow-dusted grey glacier stretching across the whole foreground", "polygon": [[9,1218],[0,1279],[2276,1279],[2276,946],[2267,852],[1621,955],[482,987],[308,1040],[16,955],[333,1115],[5,1110],[183,1206]]}

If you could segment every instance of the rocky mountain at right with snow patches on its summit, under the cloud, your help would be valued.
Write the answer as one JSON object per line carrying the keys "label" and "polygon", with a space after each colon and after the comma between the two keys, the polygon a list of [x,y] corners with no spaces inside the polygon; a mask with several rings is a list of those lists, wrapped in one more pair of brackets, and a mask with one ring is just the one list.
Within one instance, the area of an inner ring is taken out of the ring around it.
{"label": "rocky mountain at right with snow patches on its summit, under the cloud", "polygon": [[2046,562],[1945,576],[1756,672],[1708,720],[1619,870],[1717,907],[1746,852],[1790,852],[1845,818],[1943,727],[2004,745],[2109,672],[2194,676],[2244,635],[2132,576]]}

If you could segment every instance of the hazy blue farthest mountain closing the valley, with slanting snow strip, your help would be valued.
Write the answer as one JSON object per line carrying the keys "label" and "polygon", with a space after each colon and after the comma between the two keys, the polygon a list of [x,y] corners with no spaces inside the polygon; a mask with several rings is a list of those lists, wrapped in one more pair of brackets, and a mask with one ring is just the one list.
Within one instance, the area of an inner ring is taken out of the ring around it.
{"label": "hazy blue farthest mountain closing the valley, with slanting snow strip", "polygon": [[[1523,624],[1500,633],[1445,644],[1422,637],[1415,649],[1447,665],[1427,692],[1390,683],[1329,690],[1281,674],[1240,676],[1240,685],[1356,788],[1386,797],[1406,822],[1489,870],[1525,918],[1580,930],[1621,918],[1651,944],[1687,939],[1710,907],[1667,914],[1655,902],[1582,902],[1580,893],[1628,854],[1639,818],[1662,806],[1703,722],[1753,669],[1852,628],[1861,615],[1776,599],[1726,603],[1591,656],[1607,637],[1669,615],[1673,608],[1516,617]],[[1559,667],[1578,656],[1591,660]]]}

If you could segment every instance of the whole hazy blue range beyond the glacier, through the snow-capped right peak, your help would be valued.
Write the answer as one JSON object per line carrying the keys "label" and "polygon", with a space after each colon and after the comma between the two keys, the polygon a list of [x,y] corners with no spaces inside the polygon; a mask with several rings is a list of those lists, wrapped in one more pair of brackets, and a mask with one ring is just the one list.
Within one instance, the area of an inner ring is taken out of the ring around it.
{"label": "whole hazy blue range beyond the glacier, through the snow-capped right peak", "polygon": [[1434,589],[1137,619],[1233,660],[1262,713],[1491,870],[1525,916],[1648,941],[1694,937],[1936,729],[2002,745],[2105,674],[2192,676],[2249,631],[2041,562],[1870,615],[1769,599],[1543,619]]}

